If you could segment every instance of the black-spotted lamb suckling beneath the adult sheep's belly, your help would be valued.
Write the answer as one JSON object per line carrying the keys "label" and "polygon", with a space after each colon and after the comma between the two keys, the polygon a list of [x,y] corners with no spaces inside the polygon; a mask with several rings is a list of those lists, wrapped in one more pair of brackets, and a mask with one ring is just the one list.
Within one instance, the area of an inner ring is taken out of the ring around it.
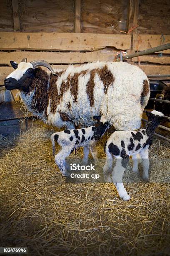
{"label": "black-spotted lamb suckling beneath the adult sheep's belly", "polygon": [[108,122],[105,122],[97,127],[90,126],[82,129],[64,130],[52,134],[51,142],[53,155],[55,155],[55,142],[61,146],[61,150],[55,155],[55,163],[63,175],[66,175],[65,159],[75,150],[75,148],[84,148],[84,164],[87,164],[89,152],[91,152],[93,159],[97,159],[95,144],[100,140],[108,128]]}

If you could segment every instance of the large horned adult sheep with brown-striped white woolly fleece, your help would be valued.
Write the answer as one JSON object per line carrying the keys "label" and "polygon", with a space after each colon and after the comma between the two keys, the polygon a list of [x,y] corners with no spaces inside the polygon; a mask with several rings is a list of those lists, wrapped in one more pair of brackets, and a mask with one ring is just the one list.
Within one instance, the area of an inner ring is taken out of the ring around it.
{"label": "large horned adult sheep with brown-striped white woolly fleece", "polygon": [[5,88],[19,89],[26,108],[45,123],[72,129],[94,125],[92,117],[102,115],[117,130],[140,128],[150,88],[139,67],[97,61],[54,72],[42,60],[10,63],[15,70],[5,79]]}

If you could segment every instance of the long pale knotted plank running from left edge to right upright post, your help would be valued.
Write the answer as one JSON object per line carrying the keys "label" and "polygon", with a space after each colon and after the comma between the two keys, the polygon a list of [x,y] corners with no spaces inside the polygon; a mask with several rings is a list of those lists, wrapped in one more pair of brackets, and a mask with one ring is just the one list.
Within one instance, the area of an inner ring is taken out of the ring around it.
{"label": "long pale knotted plank running from left edge to right upright post", "polygon": [[94,51],[107,46],[127,50],[130,45],[130,35],[0,32],[0,50]]}

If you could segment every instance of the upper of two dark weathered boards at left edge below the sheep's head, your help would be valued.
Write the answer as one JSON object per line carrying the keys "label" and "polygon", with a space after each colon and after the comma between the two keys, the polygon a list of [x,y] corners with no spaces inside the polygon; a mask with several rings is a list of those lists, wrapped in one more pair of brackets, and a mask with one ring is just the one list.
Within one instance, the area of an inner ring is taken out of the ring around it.
{"label": "upper of two dark weathered boards at left edge below the sheep's head", "polygon": [[[0,121],[25,118],[25,108],[20,101],[2,102],[0,104]],[[27,116],[32,116],[27,113]]]}

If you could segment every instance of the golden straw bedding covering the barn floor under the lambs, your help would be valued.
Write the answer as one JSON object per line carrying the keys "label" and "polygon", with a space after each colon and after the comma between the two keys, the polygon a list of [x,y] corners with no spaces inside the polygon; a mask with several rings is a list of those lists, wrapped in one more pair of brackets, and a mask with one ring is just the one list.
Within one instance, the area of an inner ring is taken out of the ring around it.
{"label": "golden straw bedding covering the barn floor under the lambs", "polygon": [[[66,183],[51,134],[38,123],[19,138],[0,138],[0,245],[27,246],[28,255],[169,255],[169,184],[125,184],[124,202],[112,184]],[[154,139],[150,156],[170,159],[169,145]]]}

